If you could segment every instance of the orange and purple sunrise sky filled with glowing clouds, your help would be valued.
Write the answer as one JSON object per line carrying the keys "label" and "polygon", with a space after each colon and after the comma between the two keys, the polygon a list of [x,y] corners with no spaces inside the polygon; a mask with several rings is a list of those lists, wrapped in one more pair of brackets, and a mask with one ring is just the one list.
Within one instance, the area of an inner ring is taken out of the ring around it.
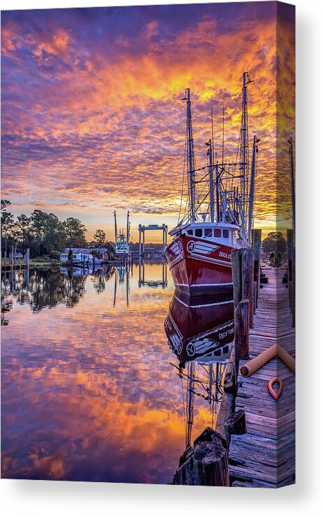
{"label": "orange and purple sunrise sky filled with glowing clouds", "polygon": [[[242,73],[249,137],[260,138],[254,225],[275,229],[291,210],[286,140],[294,134],[294,8],[276,2],[1,13],[1,187],[15,215],[35,208],[77,217],[91,238],[178,220],[185,88],[196,164],[233,159]],[[281,181],[276,180],[280,176]],[[282,193],[285,199],[278,201]],[[153,234],[147,240],[161,240]]]}

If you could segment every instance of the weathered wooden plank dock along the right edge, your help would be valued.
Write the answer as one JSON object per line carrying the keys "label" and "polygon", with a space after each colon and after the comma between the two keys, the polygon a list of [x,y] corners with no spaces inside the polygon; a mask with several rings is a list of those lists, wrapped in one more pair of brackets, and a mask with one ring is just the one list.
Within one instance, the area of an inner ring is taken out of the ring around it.
{"label": "weathered wooden plank dock along the right edge", "polygon": [[[282,282],[284,268],[263,265],[263,284],[254,326],[249,332],[249,355],[255,357],[274,344],[295,356],[295,332],[289,293]],[[240,360],[240,367],[246,360]],[[268,382],[278,377],[283,391],[277,401]],[[229,475],[232,486],[277,488],[295,479],[295,374],[279,358],[250,377],[238,374],[235,410],[245,411],[246,433],[232,435]]]}

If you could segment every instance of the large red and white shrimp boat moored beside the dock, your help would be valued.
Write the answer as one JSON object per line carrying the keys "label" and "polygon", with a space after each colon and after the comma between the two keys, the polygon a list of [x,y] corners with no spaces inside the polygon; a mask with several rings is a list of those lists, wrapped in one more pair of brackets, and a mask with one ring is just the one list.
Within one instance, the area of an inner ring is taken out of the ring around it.
{"label": "large red and white shrimp boat moored beside the dock", "polygon": [[[240,139],[235,162],[216,160],[213,136],[208,146],[206,167],[196,169],[192,132],[190,88],[185,91],[187,106],[186,170],[188,183],[187,210],[177,226],[165,256],[177,291],[186,295],[218,292],[233,286],[231,250],[249,246],[252,232],[254,180],[259,139],[254,136],[252,167],[249,172],[249,135],[247,85],[243,73]],[[213,114],[213,112],[212,112]],[[224,111],[223,111],[224,127]],[[212,122],[213,135],[213,122]]]}

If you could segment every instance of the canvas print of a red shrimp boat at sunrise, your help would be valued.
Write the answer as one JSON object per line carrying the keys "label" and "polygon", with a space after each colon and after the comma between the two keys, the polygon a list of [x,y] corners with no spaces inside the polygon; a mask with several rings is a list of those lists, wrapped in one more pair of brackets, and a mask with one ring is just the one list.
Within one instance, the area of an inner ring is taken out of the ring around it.
{"label": "canvas print of a red shrimp boat at sunrise", "polygon": [[1,476],[295,480],[295,8],[1,13]]}

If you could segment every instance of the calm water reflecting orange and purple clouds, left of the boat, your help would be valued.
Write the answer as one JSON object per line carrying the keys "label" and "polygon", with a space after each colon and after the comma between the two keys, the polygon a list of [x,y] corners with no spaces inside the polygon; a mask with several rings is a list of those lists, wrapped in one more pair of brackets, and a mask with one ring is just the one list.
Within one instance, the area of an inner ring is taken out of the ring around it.
{"label": "calm water reflecting orange and purple clouds, left of the boat", "polygon": [[[1,285],[2,477],[171,482],[187,426],[166,265],[27,275]],[[193,438],[214,406],[196,399]]]}

